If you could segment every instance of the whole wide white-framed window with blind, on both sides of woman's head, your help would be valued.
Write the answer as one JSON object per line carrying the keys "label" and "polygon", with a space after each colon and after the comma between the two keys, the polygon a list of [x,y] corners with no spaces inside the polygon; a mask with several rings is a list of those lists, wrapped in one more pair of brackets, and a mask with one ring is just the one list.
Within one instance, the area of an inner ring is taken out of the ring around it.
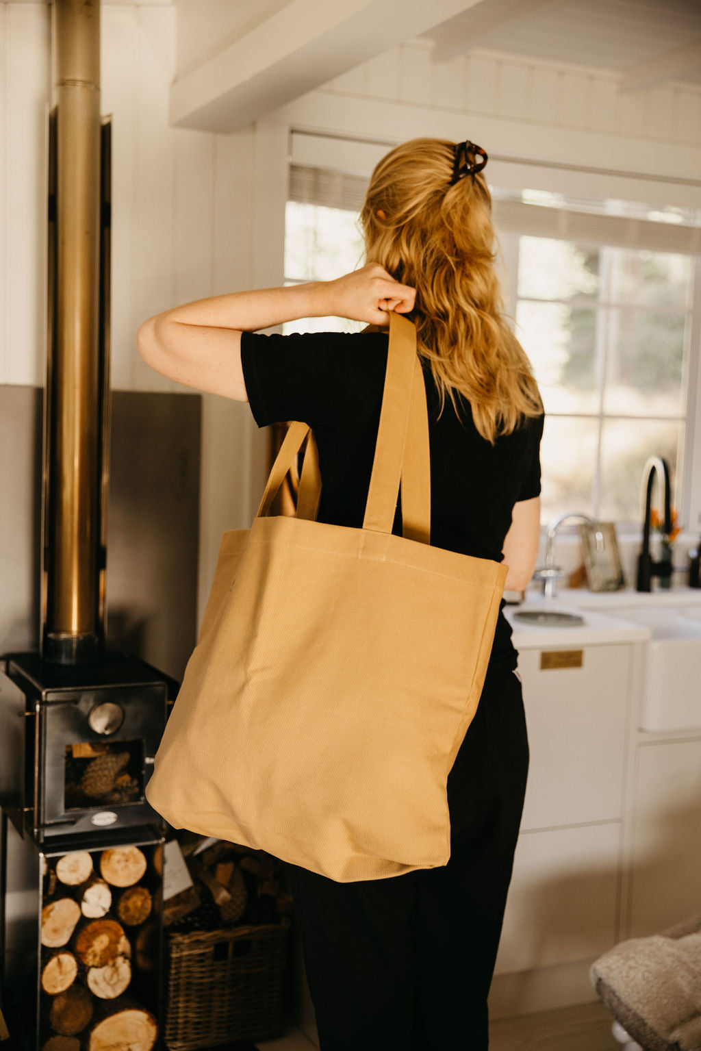
{"label": "whole wide white-framed window with blind, on both sides of woman's head", "polygon": [[[366,185],[359,177],[292,165],[288,283],[329,280],[362,264],[357,211]],[[693,345],[697,261],[683,230],[669,225],[683,222],[690,229],[697,217],[689,223],[674,209],[660,217],[625,202],[542,200],[554,197],[525,191],[515,203],[513,193],[494,192],[498,232],[502,218],[516,248],[503,254],[504,276],[515,290],[515,332],[545,406],[542,520],[583,511],[639,528],[648,456],[668,461],[673,503],[680,502],[685,439],[696,414],[689,379],[699,354]],[[669,250],[677,241],[682,250]],[[310,318],[284,331],[362,327]]]}

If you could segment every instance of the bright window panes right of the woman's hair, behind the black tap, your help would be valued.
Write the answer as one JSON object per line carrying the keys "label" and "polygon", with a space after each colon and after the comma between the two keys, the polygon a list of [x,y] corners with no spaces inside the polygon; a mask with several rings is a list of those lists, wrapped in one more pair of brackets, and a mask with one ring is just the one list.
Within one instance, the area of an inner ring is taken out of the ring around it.
{"label": "bright window panes right of the woman's hair, behind the black tap", "polygon": [[519,238],[516,333],[545,407],[543,518],[637,522],[651,455],[676,491],[693,270],[688,255]]}

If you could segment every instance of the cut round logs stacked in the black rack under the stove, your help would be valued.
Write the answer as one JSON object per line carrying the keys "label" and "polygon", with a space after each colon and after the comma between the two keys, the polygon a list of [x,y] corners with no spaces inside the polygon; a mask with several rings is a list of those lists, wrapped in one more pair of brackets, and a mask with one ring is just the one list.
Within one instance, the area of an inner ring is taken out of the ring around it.
{"label": "cut round logs stacked in the black rack under the stove", "polygon": [[41,914],[43,1051],[153,1047],[157,1021],[133,996],[132,977],[157,966],[158,858],[149,866],[144,850],[123,846],[71,851],[47,863]]}

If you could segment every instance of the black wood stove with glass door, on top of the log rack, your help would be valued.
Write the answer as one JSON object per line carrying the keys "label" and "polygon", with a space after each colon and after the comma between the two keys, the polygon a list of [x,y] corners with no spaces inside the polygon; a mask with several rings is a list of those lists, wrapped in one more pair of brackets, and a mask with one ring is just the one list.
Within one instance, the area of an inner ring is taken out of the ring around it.
{"label": "black wood stove with glass door, on top of the log rack", "polygon": [[0,671],[0,802],[39,844],[150,825],[144,788],[177,687],[127,654],[62,665],[7,654]]}

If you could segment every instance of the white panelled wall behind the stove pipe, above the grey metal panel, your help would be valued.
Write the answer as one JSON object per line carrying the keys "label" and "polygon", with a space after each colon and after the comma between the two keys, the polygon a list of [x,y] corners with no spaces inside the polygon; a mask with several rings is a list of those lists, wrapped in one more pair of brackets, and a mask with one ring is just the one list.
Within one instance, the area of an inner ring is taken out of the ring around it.
{"label": "white panelled wall behind the stove pipe, above the grey metal panel", "polygon": [[[168,126],[176,8],[103,4],[101,112],[112,123],[111,379],[189,390],[149,369],[140,323],[212,294],[217,136]],[[49,7],[0,4],[0,383],[42,386]]]}

